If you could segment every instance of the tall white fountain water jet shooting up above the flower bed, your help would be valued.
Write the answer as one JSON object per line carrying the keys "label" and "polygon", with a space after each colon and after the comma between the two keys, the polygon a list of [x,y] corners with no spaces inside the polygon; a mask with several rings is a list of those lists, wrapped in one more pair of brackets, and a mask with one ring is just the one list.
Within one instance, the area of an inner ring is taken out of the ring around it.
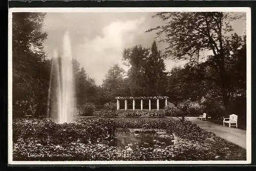
{"label": "tall white fountain water jet shooting up above the flower bed", "polygon": [[52,112],[51,118],[57,123],[69,123],[74,121],[75,115],[75,97],[74,97],[74,78],[72,65],[72,51],[69,33],[66,32],[63,37],[63,55],[58,56],[54,51],[53,57],[55,67],[55,112]]}

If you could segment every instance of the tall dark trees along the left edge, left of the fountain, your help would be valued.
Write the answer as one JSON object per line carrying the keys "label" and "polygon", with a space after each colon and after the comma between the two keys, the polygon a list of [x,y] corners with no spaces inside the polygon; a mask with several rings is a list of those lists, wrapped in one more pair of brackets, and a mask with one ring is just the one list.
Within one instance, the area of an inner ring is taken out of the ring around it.
{"label": "tall dark trees along the left edge, left of the fountain", "polygon": [[39,115],[46,109],[50,77],[50,63],[44,51],[47,33],[42,31],[46,14],[18,12],[12,15],[14,115],[28,111]]}

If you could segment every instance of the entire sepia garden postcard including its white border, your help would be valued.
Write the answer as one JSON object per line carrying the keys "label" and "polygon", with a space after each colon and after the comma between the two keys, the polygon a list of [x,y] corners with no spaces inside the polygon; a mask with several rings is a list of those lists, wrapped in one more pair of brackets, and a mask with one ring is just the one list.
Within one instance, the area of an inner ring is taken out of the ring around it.
{"label": "entire sepia garden postcard including its white border", "polygon": [[250,15],[9,9],[9,164],[249,164]]}

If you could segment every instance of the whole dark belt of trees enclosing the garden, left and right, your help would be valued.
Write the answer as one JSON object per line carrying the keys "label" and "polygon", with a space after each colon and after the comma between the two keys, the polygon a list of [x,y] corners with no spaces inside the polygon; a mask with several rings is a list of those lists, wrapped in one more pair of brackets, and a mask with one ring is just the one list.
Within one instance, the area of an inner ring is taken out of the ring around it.
{"label": "whole dark belt of trees enclosing the garden, left and right", "polygon": [[[44,51],[44,17],[44,13],[13,13],[15,116],[46,114],[52,60],[47,59]],[[231,20],[242,16],[223,12],[164,12],[154,17],[160,17],[163,25],[148,32],[155,30],[157,36],[165,35],[161,41],[168,47],[160,51],[153,41],[150,47],[125,48],[120,58],[127,71],[113,65],[100,86],[73,59],[77,108],[87,103],[97,104],[98,108],[119,96],[168,96],[168,101],[175,104],[190,101],[203,105],[212,116],[223,116],[223,109],[244,116],[246,37],[231,32],[230,26]],[[212,53],[201,60],[202,51]],[[189,62],[167,71],[166,58]]]}

